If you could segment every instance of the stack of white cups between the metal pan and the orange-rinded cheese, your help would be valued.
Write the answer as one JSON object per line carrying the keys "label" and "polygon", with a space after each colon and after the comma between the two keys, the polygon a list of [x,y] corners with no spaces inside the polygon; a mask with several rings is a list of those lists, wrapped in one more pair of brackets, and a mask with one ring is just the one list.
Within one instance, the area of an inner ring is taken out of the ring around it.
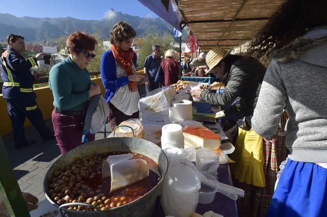
{"label": "stack of white cups between the metal pan and the orange-rinded cheese", "polygon": [[169,147],[184,148],[184,136],[182,126],[179,124],[166,124],[161,131],[161,148]]}

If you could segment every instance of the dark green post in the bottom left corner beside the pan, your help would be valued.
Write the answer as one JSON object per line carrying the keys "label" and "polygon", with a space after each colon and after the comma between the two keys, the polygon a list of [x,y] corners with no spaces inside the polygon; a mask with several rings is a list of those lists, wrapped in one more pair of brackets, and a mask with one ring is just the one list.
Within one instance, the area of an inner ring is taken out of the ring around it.
{"label": "dark green post in the bottom left corner beside the pan", "polygon": [[9,216],[30,217],[2,137],[0,137],[0,171],[0,195],[6,204]]}

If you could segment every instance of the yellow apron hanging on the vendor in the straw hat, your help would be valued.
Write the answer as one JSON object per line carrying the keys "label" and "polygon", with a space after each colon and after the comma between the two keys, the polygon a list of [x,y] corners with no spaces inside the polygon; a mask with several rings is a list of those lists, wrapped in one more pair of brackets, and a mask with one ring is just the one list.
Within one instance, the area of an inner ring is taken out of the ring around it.
{"label": "yellow apron hanging on the vendor in the straw hat", "polygon": [[263,138],[253,129],[246,131],[239,128],[236,149],[231,158],[236,161],[231,165],[236,179],[258,187],[266,186],[263,172]]}

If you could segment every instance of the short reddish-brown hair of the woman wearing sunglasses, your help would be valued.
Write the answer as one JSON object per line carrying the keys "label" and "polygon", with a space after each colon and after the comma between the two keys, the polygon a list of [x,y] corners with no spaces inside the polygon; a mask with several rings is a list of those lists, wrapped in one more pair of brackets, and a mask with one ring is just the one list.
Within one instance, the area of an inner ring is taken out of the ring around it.
{"label": "short reddish-brown hair of the woman wearing sunglasses", "polygon": [[94,51],[95,45],[97,45],[96,39],[85,32],[74,32],[66,40],[68,54],[70,47],[77,48],[80,51]]}

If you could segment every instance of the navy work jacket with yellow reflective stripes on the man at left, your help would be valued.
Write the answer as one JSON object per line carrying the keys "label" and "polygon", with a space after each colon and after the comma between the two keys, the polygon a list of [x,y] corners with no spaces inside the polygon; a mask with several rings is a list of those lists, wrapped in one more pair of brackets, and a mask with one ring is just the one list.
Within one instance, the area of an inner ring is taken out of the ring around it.
{"label": "navy work jacket with yellow reflective stripes on the man at left", "polygon": [[35,99],[33,76],[30,68],[37,65],[37,59],[25,59],[14,49],[9,49],[1,57],[1,79],[4,81],[3,96],[5,99],[23,97]]}

